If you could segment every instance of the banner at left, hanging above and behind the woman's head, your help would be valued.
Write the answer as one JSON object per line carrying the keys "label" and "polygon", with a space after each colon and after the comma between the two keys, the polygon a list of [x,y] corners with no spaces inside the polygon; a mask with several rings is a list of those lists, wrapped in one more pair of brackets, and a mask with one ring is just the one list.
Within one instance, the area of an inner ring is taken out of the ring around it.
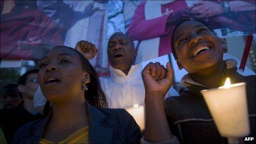
{"label": "banner at left, hanging above and behind the woman's head", "polygon": [[[57,45],[87,40],[98,47],[92,65],[104,67],[107,1],[1,1],[1,58],[39,60]],[[104,60],[103,60],[103,59]]]}

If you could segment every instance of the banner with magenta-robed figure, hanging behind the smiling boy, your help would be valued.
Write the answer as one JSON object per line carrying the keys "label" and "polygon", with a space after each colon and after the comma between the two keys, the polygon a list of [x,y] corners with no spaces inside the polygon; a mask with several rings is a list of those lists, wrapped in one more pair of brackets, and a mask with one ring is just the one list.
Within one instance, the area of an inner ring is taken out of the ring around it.
{"label": "banner with magenta-robed figure, hanging behind the smiling boy", "polygon": [[255,34],[255,3],[256,1],[125,1],[126,32],[137,41],[137,62],[146,61],[171,53],[172,32],[177,24],[187,19],[204,22],[223,38]]}

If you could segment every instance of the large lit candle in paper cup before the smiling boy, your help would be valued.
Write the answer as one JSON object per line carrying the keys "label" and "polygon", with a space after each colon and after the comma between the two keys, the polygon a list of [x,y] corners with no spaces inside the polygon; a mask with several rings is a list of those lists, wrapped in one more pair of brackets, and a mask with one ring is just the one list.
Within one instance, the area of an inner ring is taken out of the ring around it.
{"label": "large lit candle in paper cup before the smiling boy", "polygon": [[249,135],[246,83],[230,84],[227,78],[224,86],[201,93],[221,136],[231,142]]}

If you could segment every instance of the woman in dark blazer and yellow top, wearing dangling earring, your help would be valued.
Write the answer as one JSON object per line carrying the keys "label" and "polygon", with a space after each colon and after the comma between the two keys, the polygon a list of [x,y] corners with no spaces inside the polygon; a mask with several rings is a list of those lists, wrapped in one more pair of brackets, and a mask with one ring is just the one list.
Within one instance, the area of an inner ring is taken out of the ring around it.
{"label": "woman in dark blazer and yellow top, wearing dangling earring", "polygon": [[140,127],[132,116],[106,108],[97,72],[81,53],[57,46],[40,60],[40,67],[39,83],[50,111],[22,126],[12,143],[140,142]]}

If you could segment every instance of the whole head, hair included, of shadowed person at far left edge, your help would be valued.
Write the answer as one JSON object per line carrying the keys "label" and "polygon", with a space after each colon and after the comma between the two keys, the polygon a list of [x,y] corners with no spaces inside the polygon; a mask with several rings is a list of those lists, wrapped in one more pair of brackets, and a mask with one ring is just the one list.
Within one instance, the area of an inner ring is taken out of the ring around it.
{"label": "whole head, hair included, of shadowed person at far left edge", "polygon": [[3,108],[14,108],[22,103],[22,98],[18,91],[18,84],[9,83],[2,88],[1,104]]}

